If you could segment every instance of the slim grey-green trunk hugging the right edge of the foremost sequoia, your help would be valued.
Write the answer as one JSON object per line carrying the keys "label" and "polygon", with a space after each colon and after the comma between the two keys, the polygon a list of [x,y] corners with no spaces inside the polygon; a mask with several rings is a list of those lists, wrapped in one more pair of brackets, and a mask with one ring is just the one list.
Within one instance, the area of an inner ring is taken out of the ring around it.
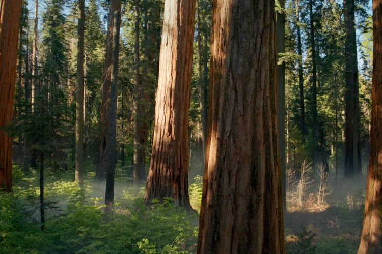
{"label": "slim grey-green trunk hugging the right edge of the foremost sequoia", "polygon": [[[281,8],[285,8],[285,0],[280,0]],[[282,10],[277,14],[277,53],[285,53],[285,14]],[[277,66],[277,122],[279,130],[279,148],[280,148],[280,167],[283,183],[283,207],[286,209],[286,193],[285,193],[285,63]]]}

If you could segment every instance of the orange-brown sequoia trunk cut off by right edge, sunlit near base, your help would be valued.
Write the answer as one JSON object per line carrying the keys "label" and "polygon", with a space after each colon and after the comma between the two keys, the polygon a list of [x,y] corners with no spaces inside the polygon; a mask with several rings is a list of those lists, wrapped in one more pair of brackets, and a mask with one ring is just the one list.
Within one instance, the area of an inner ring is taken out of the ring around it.
{"label": "orange-brown sequoia trunk cut off by right edge, sunlit near base", "polygon": [[373,1],[373,91],[366,203],[358,253],[382,253],[382,0]]}

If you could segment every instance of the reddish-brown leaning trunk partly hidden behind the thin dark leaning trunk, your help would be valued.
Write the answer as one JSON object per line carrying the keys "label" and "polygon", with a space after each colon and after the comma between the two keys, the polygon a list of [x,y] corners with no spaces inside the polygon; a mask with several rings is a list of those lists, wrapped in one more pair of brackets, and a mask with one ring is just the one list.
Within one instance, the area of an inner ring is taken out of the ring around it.
{"label": "reddish-brown leaning trunk partly hidden behind the thin dark leaning trunk", "polygon": [[107,21],[107,38],[106,38],[106,53],[105,67],[102,75],[102,102],[101,102],[101,121],[100,121],[100,136],[98,145],[98,160],[96,177],[98,180],[106,179],[107,171],[107,146],[108,146],[108,128],[109,128],[109,113],[110,113],[110,86],[112,73],[112,45],[113,45],[113,30],[114,30],[114,12],[121,9],[121,1],[110,1],[110,10]]}

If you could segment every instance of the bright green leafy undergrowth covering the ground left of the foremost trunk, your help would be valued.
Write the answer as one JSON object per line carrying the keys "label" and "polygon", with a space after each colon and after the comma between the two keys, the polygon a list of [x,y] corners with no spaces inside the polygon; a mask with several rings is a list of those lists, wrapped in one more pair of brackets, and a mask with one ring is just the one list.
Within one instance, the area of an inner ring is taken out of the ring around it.
{"label": "bright green leafy undergrowth covering the ground left of the foremost trunk", "polygon": [[[188,214],[171,199],[146,207],[143,188],[117,182],[114,214],[105,216],[103,198],[96,196],[102,188],[88,177],[80,189],[72,173],[45,175],[41,230],[38,174],[14,168],[13,191],[0,193],[0,253],[196,252],[198,214]],[[194,188],[192,193],[200,193]]]}

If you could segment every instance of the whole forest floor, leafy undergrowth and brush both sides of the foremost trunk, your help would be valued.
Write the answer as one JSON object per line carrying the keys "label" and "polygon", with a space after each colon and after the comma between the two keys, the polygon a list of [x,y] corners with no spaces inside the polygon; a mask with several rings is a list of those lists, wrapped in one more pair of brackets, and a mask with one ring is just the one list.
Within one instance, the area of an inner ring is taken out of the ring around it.
{"label": "whole forest floor, leafy undergrowth and brush both sides of the foremost trunk", "polygon": [[[14,167],[14,190],[0,196],[0,253],[195,253],[198,214],[188,215],[171,203],[143,205],[144,184],[136,187],[118,166],[115,217],[103,214],[104,182],[87,170],[85,189],[74,172],[45,174],[46,223],[40,230],[38,172]],[[196,172],[194,173],[196,174]],[[201,176],[189,177],[190,202],[200,210]],[[310,184],[304,205],[288,203],[284,214],[287,253],[357,253],[362,230],[366,176],[330,179],[325,204],[315,202]],[[171,202],[171,201],[170,201]],[[105,244],[107,243],[107,244]]]}

